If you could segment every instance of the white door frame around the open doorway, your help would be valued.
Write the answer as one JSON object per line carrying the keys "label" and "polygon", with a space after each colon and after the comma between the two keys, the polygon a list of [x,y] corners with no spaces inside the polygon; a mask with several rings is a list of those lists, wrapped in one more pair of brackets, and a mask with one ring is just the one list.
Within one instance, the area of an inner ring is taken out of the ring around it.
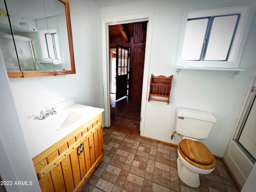
{"label": "white door frame around the open doorway", "polygon": [[104,95],[104,126],[110,126],[110,62],[109,62],[109,34],[108,26],[124,23],[134,23],[148,21],[146,48],[145,48],[145,60],[144,60],[144,72],[142,82],[142,100],[140,110],[140,135],[144,136],[144,120],[146,113],[146,101],[148,92],[148,79],[149,79],[149,66],[150,66],[150,53],[152,44],[152,31],[153,31],[153,19],[154,12],[144,12],[138,14],[114,16],[102,18],[102,72],[103,72],[103,95]]}

